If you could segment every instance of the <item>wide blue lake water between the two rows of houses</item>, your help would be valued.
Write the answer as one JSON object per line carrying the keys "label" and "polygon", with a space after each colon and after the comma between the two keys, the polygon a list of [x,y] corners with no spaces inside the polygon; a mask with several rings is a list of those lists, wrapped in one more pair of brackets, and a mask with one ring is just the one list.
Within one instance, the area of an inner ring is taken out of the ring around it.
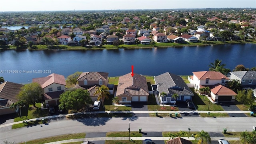
{"label": "wide blue lake water between the two rows of houses", "polygon": [[[157,76],[164,72],[192,75],[208,70],[215,59],[233,70],[238,64],[256,66],[256,44],[225,44],[214,46],[184,46],[171,48],[119,50],[1,50],[0,76],[16,83],[28,83],[32,78],[51,73],[67,77],[74,72],[109,72],[122,76],[131,72]],[[8,73],[6,70],[16,70]]]}

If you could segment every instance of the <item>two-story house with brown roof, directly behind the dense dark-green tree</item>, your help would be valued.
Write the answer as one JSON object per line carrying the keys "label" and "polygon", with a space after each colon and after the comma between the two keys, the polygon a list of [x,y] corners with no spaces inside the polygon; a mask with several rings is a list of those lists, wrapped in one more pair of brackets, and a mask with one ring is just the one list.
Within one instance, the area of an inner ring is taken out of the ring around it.
{"label": "two-story house with brown roof, directly behind the dense dark-green tree", "polygon": [[90,98],[93,101],[97,100],[98,95],[94,95],[96,87],[105,85],[108,86],[108,73],[107,72],[82,72],[77,78],[78,84],[75,88],[82,88],[88,90]]}

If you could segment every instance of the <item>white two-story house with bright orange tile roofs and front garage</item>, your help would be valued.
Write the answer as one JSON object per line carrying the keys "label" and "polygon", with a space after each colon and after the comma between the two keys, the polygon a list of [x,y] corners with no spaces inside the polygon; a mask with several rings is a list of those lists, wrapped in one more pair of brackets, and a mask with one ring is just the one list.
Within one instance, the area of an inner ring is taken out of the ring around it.
{"label": "white two-story house with bright orange tile roofs and front garage", "polygon": [[229,88],[226,88],[225,82],[230,80],[221,72],[201,71],[193,72],[193,76],[188,77],[191,84],[194,84],[194,89],[199,92],[200,88],[209,87],[211,89],[208,97],[212,102],[234,102],[236,93]]}

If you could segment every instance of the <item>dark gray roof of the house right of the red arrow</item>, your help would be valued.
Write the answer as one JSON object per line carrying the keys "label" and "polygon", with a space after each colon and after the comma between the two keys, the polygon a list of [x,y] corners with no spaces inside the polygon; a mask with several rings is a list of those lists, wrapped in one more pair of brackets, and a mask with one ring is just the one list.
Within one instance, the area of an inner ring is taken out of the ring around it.
{"label": "dark gray roof of the house right of the red arrow", "polygon": [[155,76],[155,81],[158,84],[160,93],[165,92],[166,94],[178,94],[180,96],[194,95],[183,79],[175,74],[170,74],[169,72],[160,74]]}

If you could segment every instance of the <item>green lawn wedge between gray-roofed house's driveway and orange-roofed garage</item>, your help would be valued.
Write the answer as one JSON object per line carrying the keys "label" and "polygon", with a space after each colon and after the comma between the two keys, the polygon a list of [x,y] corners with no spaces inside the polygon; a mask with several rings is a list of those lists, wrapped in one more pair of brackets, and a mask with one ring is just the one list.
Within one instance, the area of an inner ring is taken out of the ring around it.
{"label": "green lawn wedge between gray-roofed house's driveway and orange-roofed garage", "polygon": [[207,97],[205,97],[205,100],[204,100],[204,96],[194,92],[194,88],[190,88],[190,89],[194,93],[192,100],[198,110],[224,110],[222,106],[220,106],[219,104],[213,104],[212,102],[210,102],[210,106],[209,106],[210,100]]}

